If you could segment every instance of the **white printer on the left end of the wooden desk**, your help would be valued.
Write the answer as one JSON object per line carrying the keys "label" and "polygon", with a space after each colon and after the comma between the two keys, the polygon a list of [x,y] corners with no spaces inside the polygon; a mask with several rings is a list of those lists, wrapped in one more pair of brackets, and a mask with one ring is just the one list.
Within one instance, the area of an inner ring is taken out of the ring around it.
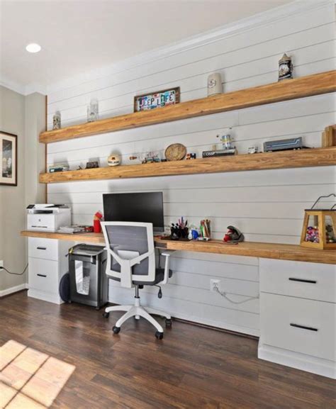
{"label": "white printer on the left end of the wooden desk", "polygon": [[56,232],[71,225],[71,209],[66,205],[32,204],[27,207],[27,230]]}

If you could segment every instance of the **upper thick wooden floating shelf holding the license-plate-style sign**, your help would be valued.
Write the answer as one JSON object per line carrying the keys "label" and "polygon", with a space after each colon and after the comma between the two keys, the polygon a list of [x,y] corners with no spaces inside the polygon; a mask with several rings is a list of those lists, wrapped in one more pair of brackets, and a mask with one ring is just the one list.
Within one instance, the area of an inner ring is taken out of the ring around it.
{"label": "upper thick wooden floating shelf holding the license-plate-style sign", "polygon": [[296,79],[283,80],[273,84],[255,86],[240,91],[228,92],[207,98],[177,103],[174,106],[157,108],[152,111],[129,113],[91,123],[49,130],[40,134],[40,142],[59,142],[99,133],[140,128],[156,123],[178,121],[195,116],[211,115],[224,111],[248,108],[280,101],[289,101],[306,96],[327,94],[336,91],[336,71],[322,72]]}

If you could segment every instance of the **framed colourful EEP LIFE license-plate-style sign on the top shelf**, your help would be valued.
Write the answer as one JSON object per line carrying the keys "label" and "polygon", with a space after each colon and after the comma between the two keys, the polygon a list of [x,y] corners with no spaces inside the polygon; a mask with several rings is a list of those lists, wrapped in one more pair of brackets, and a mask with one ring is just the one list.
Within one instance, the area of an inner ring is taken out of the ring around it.
{"label": "framed colourful EEP LIFE license-plate-style sign on the top shelf", "polygon": [[174,103],[179,103],[179,95],[179,86],[152,92],[151,94],[136,95],[134,97],[134,112],[147,111],[159,106],[174,105]]}

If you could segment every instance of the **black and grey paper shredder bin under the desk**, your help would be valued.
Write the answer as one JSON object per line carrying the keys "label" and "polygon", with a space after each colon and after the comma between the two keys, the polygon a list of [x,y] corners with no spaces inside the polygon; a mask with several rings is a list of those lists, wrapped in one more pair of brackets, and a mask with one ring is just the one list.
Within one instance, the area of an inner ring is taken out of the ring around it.
{"label": "black and grey paper shredder bin under the desk", "polygon": [[106,250],[101,246],[75,245],[69,249],[70,300],[96,307],[108,302]]}

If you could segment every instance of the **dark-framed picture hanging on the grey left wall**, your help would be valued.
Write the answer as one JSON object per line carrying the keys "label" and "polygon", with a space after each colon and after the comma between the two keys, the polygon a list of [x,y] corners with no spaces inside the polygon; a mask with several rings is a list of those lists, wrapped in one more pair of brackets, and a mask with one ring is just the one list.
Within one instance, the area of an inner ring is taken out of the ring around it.
{"label": "dark-framed picture hanging on the grey left wall", "polygon": [[1,130],[0,185],[18,186],[18,137]]}

